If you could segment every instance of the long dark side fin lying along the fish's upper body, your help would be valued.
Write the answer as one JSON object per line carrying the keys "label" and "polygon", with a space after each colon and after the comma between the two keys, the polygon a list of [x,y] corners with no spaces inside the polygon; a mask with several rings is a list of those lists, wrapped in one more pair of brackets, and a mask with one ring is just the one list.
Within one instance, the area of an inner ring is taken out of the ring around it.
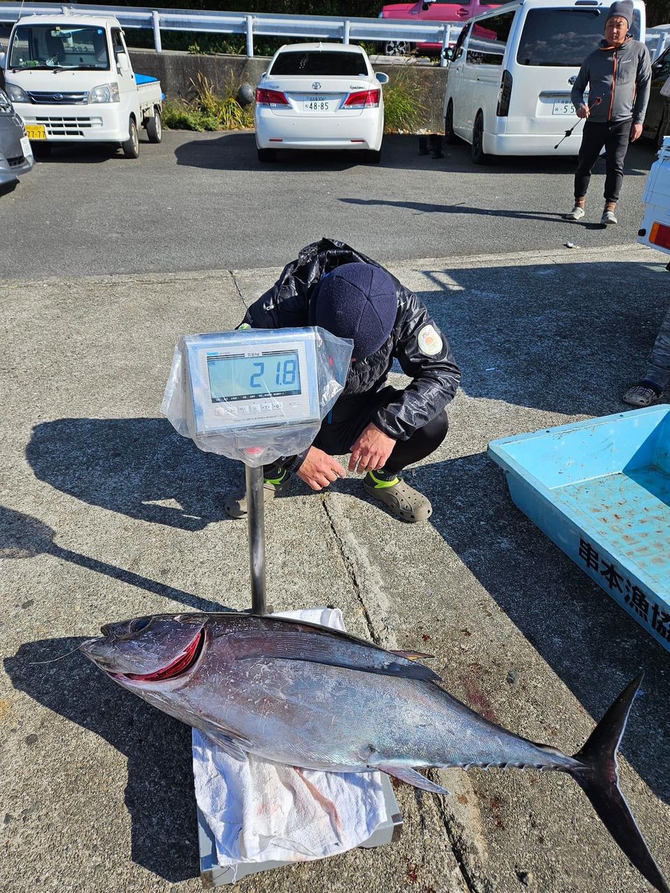
{"label": "long dark side fin lying along the fish's upper body", "polygon": [[387,651],[364,639],[314,623],[286,622],[274,617],[247,616],[244,620],[230,629],[226,642],[226,647],[238,660],[264,657],[306,661],[383,676],[441,681],[436,672],[406,656],[419,656],[418,652]]}

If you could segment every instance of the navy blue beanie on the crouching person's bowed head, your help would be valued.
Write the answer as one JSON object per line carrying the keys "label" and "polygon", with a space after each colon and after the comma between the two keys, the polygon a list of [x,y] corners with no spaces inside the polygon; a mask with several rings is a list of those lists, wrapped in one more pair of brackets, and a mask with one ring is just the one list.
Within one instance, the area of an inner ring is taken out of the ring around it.
{"label": "navy blue beanie on the crouching person's bowed head", "polygon": [[398,313],[395,282],[372,263],[343,263],[326,273],[313,300],[314,325],[351,338],[356,360],[380,349]]}

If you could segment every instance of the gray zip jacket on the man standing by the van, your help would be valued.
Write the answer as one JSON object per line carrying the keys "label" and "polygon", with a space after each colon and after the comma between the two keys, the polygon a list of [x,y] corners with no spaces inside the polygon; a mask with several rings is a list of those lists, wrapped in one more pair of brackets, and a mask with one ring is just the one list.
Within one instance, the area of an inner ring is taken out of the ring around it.
{"label": "gray zip jacket on the man standing by the van", "polygon": [[[628,38],[617,47],[602,40],[586,57],[570,94],[574,107],[586,105],[584,90],[589,87],[589,121],[644,121],[649,102],[651,60],[649,50],[639,40]],[[594,104],[599,97],[600,104]]]}

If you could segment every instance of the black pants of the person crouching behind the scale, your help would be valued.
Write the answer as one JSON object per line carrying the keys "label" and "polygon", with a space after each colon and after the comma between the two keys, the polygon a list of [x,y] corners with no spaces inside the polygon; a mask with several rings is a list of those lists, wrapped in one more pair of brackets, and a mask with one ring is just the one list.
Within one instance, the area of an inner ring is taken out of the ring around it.
{"label": "black pants of the person crouching behind the scale", "polygon": [[[397,388],[381,388],[370,394],[360,394],[340,399],[332,407],[331,413],[322,421],[319,433],[314,438],[314,447],[322,449],[328,455],[344,455],[351,452],[356,438],[373,420],[374,414],[381,406],[388,406],[398,399],[402,391]],[[431,455],[447,437],[449,423],[446,410],[423,428],[415,430],[406,440],[398,440],[388,462],[384,465],[387,472],[400,472],[406,465],[419,462]],[[285,460],[286,464],[291,458]],[[266,465],[264,476],[272,478],[273,472],[281,467],[281,463]]]}

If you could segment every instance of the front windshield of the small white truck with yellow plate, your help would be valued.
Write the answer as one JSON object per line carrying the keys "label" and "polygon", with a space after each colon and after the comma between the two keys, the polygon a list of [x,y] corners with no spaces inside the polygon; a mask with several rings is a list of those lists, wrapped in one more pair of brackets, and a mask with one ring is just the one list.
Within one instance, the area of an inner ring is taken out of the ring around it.
{"label": "front windshield of the small white truck with yellow plate", "polygon": [[21,25],[14,31],[9,68],[109,70],[104,28]]}

